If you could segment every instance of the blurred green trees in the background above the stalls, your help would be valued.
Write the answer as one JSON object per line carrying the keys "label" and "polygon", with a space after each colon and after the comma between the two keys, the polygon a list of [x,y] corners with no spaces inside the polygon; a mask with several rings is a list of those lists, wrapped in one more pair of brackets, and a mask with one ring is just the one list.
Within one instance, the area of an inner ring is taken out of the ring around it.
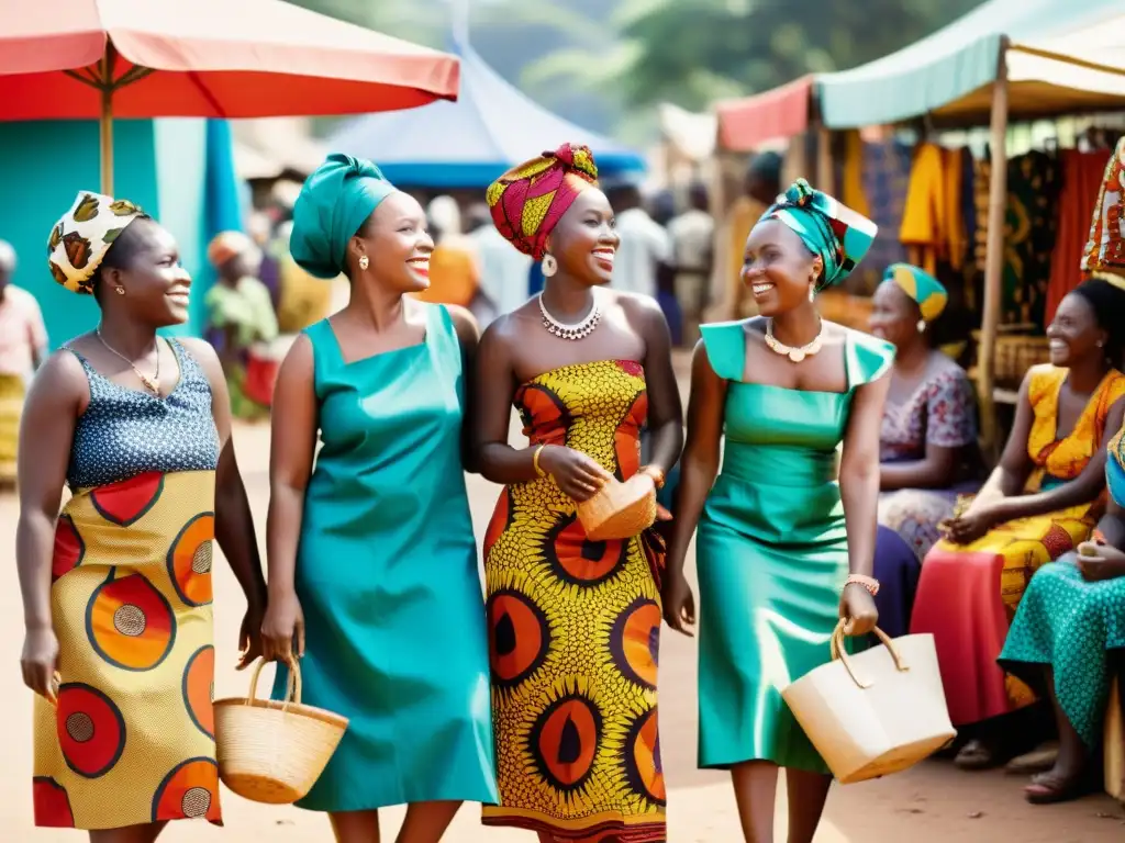
{"label": "blurred green trees in the background above the stalls", "polygon": [[[460,0],[289,0],[449,46]],[[904,47],[983,0],[469,0],[471,43],[504,79],[594,130],[639,140],[660,101],[704,110]]]}

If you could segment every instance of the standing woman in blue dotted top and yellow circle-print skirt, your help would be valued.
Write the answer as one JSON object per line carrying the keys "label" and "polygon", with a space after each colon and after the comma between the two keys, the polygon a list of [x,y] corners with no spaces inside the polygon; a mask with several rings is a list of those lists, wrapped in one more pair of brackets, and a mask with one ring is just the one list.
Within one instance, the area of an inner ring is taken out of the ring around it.
{"label": "standing woman in blue dotted top and yellow circle-print skirt", "polygon": [[212,540],[250,604],[240,667],[259,652],[266,583],[218,357],[156,336],[188,318],[172,235],[83,192],[48,248],[55,280],[92,294],[101,318],[39,370],[24,420],[35,435],[20,439],[35,823],[152,843],[171,819],[222,822]]}

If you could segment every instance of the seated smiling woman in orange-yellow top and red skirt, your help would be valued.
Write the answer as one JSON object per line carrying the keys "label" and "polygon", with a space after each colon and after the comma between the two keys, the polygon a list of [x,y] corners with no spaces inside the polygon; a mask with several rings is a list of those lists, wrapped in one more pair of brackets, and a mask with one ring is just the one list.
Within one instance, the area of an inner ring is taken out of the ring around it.
{"label": "seated smiling woman in orange-yellow top and red skirt", "polygon": [[957,754],[963,769],[999,763],[1019,749],[1004,738],[1026,736],[993,719],[1034,701],[996,659],[1032,574],[1089,538],[1100,515],[1106,445],[1125,407],[1113,364],[1123,297],[1095,279],[1059,305],[1051,363],[1024,378],[1000,464],[922,564],[910,632],[935,637],[954,725],[979,724]]}

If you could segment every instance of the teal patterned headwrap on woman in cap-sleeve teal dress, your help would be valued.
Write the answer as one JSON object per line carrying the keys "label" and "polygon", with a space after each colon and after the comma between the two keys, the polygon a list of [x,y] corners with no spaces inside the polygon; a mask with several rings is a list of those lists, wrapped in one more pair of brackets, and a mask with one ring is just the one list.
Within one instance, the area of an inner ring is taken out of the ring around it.
{"label": "teal patterned headwrap on woman in cap-sleeve teal dress", "polygon": [[758,221],[766,219],[781,220],[796,232],[812,254],[820,255],[825,274],[818,290],[850,275],[879,230],[870,219],[813,190],[804,179],[793,182]]}

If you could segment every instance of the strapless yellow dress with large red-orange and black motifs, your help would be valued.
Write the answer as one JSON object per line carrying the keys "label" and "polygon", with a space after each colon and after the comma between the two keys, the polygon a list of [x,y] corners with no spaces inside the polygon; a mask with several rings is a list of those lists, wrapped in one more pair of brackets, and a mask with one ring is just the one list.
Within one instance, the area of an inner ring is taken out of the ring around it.
{"label": "strapless yellow dress with large red-orange and black motifs", "polygon": [[[622,480],[640,468],[639,363],[551,370],[520,387],[515,406],[532,444],[567,445]],[[543,478],[501,493],[485,554],[501,796],[485,824],[664,841],[658,541],[591,542],[574,501]]]}

